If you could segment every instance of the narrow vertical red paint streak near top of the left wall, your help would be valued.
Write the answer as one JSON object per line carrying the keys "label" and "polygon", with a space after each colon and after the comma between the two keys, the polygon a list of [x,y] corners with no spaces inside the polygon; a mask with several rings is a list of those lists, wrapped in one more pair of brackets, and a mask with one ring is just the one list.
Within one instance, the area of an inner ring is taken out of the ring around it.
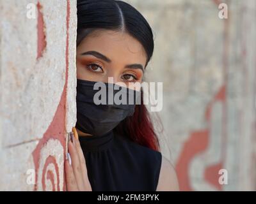
{"label": "narrow vertical red paint streak near top of the left wall", "polygon": [[36,59],[42,57],[42,53],[46,47],[45,33],[44,33],[44,17],[41,12],[41,4],[38,2],[36,4],[38,17],[37,17],[37,57]]}

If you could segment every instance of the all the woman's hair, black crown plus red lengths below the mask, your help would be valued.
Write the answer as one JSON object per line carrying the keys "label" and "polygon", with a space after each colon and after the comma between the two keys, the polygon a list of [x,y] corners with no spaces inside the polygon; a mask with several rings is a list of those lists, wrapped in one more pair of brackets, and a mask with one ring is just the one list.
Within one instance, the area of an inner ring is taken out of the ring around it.
{"label": "all the woman's hair, black crown plus red lengths below the mask", "polygon": [[[139,11],[124,1],[77,0],[77,46],[88,34],[101,29],[131,34],[143,46],[147,66],[154,51],[154,39],[150,25]],[[140,145],[159,150],[159,141],[148,110],[143,105],[142,93],[141,101],[141,105],[135,106],[134,114],[126,117],[113,131]]]}

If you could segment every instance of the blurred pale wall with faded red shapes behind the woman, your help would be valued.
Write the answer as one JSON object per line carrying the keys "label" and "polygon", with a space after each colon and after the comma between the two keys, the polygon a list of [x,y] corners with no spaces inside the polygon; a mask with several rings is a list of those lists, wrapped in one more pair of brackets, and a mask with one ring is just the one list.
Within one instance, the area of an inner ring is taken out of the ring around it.
{"label": "blurred pale wall with faded red shapes behind the woman", "polygon": [[154,31],[147,81],[163,82],[160,142],[180,189],[256,190],[256,1],[127,2]]}

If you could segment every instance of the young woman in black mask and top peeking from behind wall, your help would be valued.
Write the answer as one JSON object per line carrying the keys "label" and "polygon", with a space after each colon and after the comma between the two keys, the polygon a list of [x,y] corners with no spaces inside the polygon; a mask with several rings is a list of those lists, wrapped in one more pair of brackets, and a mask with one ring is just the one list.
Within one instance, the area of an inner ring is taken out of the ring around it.
{"label": "young woman in black mask and top peeking from behind wall", "polygon": [[179,190],[173,166],[158,151],[145,105],[93,103],[97,82],[143,82],[153,50],[150,25],[130,4],[77,1],[79,140],[68,142],[68,191]]}

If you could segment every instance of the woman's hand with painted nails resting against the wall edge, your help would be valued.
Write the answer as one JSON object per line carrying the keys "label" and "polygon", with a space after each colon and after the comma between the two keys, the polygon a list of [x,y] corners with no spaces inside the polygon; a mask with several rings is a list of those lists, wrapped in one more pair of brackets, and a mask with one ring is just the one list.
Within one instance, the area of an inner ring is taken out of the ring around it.
{"label": "woman's hand with painted nails resting against the wall edge", "polygon": [[92,191],[83,150],[74,136],[68,141],[68,152],[65,160],[67,191]]}

